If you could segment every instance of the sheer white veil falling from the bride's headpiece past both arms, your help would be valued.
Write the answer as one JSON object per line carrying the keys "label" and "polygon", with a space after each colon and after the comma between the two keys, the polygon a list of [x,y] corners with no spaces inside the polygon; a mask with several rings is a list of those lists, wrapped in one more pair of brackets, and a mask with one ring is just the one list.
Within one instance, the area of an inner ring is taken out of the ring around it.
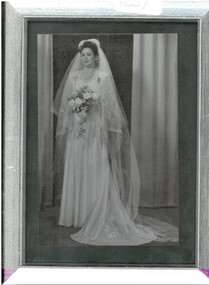
{"label": "sheer white veil falling from the bride's headpiece past both arms", "polygon": [[[117,92],[109,63],[100,47],[99,41],[96,39],[90,39],[88,41],[93,41],[97,44],[99,64],[96,69],[99,72],[104,72],[109,75],[110,80],[107,84],[110,84],[111,90],[114,90],[114,92],[110,93],[110,96],[106,96],[103,102],[103,121],[105,122],[104,127],[106,128],[104,132],[109,134],[107,143],[112,167],[115,168],[115,171],[119,172],[117,173],[117,177],[121,186],[121,199],[125,203],[128,211],[135,217],[138,213],[139,206],[140,177],[136,156],[129,135],[128,120]],[[79,46],[82,44],[83,41],[79,43]],[[61,177],[63,177],[63,156],[66,134],[72,123],[72,118],[70,118],[70,114],[67,111],[68,97],[71,88],[70,78],[74,72],[81,69],[81,55],[80,52],[78,52],[63,77],[53,104],[52,111],[58,117],[56,129],[55,177],[61,181]],[[123,177],[119,171],[120,169],[122,169]],[[59,189],[61,189],[61,181],[59,183]],[[129,186],[125,185],[125,183],[129,184]],[[129,189],[127,189],[127,187]]]}

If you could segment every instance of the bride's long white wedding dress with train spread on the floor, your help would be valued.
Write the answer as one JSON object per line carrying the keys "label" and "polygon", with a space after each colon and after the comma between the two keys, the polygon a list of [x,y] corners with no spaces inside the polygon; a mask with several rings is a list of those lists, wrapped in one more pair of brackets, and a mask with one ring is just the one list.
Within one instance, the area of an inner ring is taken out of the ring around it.
{"label": "bride's long white wedding dress with train spread on the floor", "polygon": [[[81,72],[71,76],[71,92],[88,86],[100,95],[98,104],[88,113],[78,137],[80,124],[76,114],[67,133],[65,166],[59,225],[78,228],[73,240],[91,245],[140,245],[159,241],[177,241],[177,229],[155,219],[138,216],[133,220],[122,202],[118,173],[107,145],[103,126],[102,102],[110,92],[108,75],[96,71],[89,81]],[[120,171],[120,170],[119,170]],[[138,187],[140,187],[138,185]]]}

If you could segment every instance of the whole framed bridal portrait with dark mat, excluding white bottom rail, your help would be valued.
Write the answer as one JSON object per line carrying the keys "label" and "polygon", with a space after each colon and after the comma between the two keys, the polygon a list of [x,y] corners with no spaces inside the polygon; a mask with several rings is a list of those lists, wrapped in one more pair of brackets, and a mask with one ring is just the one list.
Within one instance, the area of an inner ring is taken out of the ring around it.
{"label": "whole framed bridal portrait with dark mat, excluding white bottom rail", "polygon": [[4,268],[209,268],[208,9],[45,13],[4,4]]}

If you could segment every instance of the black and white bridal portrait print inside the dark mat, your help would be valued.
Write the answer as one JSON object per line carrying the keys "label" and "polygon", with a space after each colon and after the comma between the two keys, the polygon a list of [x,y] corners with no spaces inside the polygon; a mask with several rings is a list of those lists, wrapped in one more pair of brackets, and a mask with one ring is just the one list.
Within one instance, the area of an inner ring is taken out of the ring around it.
{"label": "black and white bridal portrait print inside the dark mat", "polygon": [[177,34],[37,42],[39,245],[178,245]]}

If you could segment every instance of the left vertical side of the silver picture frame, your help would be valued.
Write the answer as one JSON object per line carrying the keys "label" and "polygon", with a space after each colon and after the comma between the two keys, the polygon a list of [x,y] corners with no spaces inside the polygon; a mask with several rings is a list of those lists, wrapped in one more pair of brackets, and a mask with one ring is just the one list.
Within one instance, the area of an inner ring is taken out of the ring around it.
{"label": "left vertical side of the silver picture frame", "polygon": [[24,19],[7,2],[4,13],[3,269],[14,271],[22,262]]}

